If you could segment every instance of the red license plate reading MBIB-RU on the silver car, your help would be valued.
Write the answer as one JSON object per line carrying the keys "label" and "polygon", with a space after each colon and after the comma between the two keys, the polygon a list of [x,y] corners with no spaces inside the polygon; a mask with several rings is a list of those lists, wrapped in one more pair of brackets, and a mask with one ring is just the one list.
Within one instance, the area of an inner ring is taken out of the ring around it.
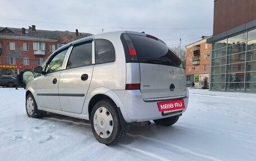
{"label": "red license plate reading MBIB-RU on the silver car", "polygon": [[170,100],[166,102],[158,102],[159,112],[179,111],[185,108],[183,99]]}

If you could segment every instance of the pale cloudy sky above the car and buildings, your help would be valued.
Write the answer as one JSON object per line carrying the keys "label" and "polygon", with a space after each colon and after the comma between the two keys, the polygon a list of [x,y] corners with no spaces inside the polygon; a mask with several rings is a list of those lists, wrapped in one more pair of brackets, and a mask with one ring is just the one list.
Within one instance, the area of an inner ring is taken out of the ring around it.
{"label": "pale cloudy sky above the car and buildings", "polygon": [[[185,47],[213,32],[213,0],[0,0],[0,26],[100,34],[144,31]],[[180,41],[181,39],[181,41]]]}

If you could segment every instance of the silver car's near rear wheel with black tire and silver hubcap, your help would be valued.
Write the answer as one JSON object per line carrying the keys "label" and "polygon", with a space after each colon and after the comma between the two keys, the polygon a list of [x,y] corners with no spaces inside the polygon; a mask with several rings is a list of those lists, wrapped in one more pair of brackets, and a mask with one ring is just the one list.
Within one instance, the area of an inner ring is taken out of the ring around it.
{"label": "silver car's near rear wheel with black tire and silver hubcap", "polygon": [[121,141],[126,131],[122,129],[116,104],[100,100],[93,107],[90,123],[94,137],[102,144],[113,145]]}

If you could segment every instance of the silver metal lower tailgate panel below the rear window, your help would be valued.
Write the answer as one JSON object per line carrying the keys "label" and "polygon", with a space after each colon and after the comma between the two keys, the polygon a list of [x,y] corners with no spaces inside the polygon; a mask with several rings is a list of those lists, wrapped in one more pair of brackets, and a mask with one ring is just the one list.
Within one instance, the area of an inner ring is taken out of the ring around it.
{"label": "silver metal lower tailgate panel below the rear window", "polygon": [[184,77],[185,70],[182,68],[140,63],[140,90],[143,99],[185,96]]}

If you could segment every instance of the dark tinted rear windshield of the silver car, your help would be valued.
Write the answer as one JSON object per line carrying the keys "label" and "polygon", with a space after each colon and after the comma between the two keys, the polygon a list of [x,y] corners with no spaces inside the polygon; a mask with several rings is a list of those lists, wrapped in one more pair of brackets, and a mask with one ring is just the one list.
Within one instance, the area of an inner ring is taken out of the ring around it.
{"label": "dark tinted rear windshield of the silver car", "polygon": [[153,63],[184,68],[180,58],[166,44],[142,35],[129,35],[139,63]]}

